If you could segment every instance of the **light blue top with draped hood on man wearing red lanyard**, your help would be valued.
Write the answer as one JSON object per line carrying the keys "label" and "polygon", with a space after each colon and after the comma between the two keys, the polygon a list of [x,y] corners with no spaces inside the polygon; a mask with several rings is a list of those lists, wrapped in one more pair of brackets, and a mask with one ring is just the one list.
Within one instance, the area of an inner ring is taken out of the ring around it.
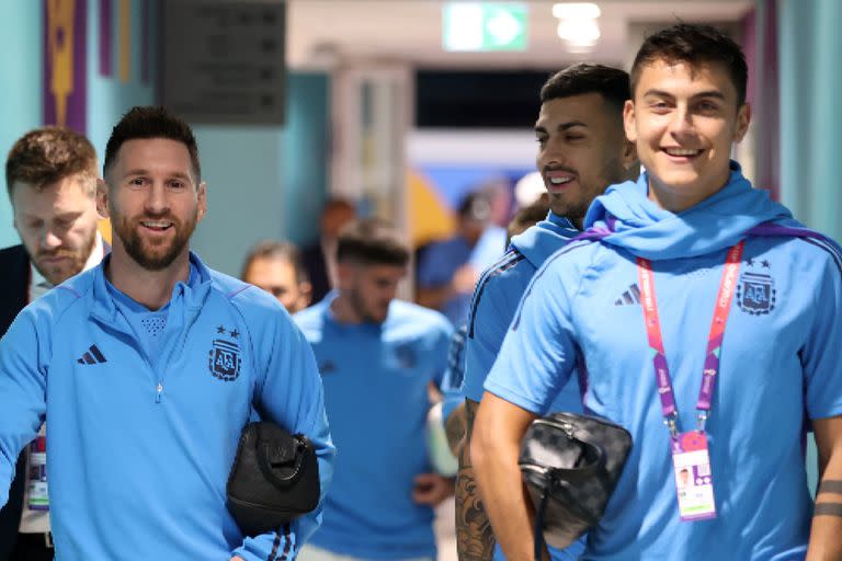
{"label": "light blue top with draped hood on man wearing red lanyard", "polygon": [[[650,202],[647,185],[642,174],[610,187],[585,219],[606,236],[568,244],[535,275],[486,389],[542,413],[584,363],[585,410],[632,433],[583,560],[803,559],[807,420],[842,414],[840,251],[783,229],[747,233],[799,225],[736,163],[722,190],[678,215]],[[681,522],[635,256],[652,262],[679,428],[691,431],[725,255],[742,239],[707,422],[717,517]]]}

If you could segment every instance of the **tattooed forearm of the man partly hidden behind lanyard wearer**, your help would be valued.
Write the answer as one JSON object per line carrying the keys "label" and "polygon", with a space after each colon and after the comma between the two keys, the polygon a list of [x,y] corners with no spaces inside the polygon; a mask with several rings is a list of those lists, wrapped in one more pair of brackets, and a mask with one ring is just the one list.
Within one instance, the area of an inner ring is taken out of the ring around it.
{"label": "tattooed forearm of the man partly hidden behind lanyard wearer", "polygon": [[494,533],[479,499],[470,461],[470,435],[478,405],[476,401],[465,400],[467,433],[459,450],[456,479],[456,549],[459,561],[488,561],[494,554]]}

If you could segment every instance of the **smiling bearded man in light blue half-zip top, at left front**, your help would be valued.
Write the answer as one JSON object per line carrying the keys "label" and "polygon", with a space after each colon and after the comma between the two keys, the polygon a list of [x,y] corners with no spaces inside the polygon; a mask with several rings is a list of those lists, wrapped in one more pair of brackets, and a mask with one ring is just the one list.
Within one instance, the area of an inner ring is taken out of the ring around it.
{"label": "smiling bearded man in light blue half-zip top, at left front", "polygon": [[207,206],[186,123],[133,108],[103,168],[111,254],[27,306],[0,340],[0,505],[49,417],[58,561],[294,559],[320,508],[246,537],[226,482],[260,411],[310,438],[323,497],[333,446],[310,346],[271,295],[189,250]]}

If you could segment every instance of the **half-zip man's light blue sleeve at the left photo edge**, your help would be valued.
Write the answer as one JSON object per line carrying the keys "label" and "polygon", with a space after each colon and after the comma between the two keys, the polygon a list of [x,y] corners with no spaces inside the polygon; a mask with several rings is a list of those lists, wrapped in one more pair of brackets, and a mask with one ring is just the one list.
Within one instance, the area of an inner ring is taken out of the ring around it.
{"label": "half-zip man's light blue sleeve at the left photo edge", "polygon": [[0,340],[0,506],[21,449],[37,435],[47,409],[47,333],[38,333],[35,316],[23,311]]}

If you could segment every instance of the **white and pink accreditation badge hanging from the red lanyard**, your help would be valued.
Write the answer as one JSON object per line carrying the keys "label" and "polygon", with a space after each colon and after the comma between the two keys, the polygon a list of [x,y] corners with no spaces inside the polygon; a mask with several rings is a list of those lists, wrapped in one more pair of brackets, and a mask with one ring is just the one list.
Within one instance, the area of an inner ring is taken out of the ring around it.
{"label": "white and pink accreditation badge hanging from the red lanyard", "polygon": [[704,431],[678,433],[671,437],[671,446],[681,519],[689,522],[716,518],[707,435]]}

